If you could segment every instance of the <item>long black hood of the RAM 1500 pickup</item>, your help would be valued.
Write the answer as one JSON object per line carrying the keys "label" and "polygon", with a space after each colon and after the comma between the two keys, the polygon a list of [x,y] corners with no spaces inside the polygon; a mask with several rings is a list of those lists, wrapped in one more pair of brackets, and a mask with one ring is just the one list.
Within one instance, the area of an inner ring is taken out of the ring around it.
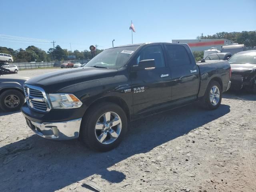
{"label": "long black hood of the RAM 1500 pickup", "polygon": [[39,86],[47,93],[56,93],[58,90],[69,86],[76,86],[81,83],[102,78],[112,78],[115,76],[116,72],[116,69],[94,67],[72,68],[36,76],[26,81],[26,84]]}

